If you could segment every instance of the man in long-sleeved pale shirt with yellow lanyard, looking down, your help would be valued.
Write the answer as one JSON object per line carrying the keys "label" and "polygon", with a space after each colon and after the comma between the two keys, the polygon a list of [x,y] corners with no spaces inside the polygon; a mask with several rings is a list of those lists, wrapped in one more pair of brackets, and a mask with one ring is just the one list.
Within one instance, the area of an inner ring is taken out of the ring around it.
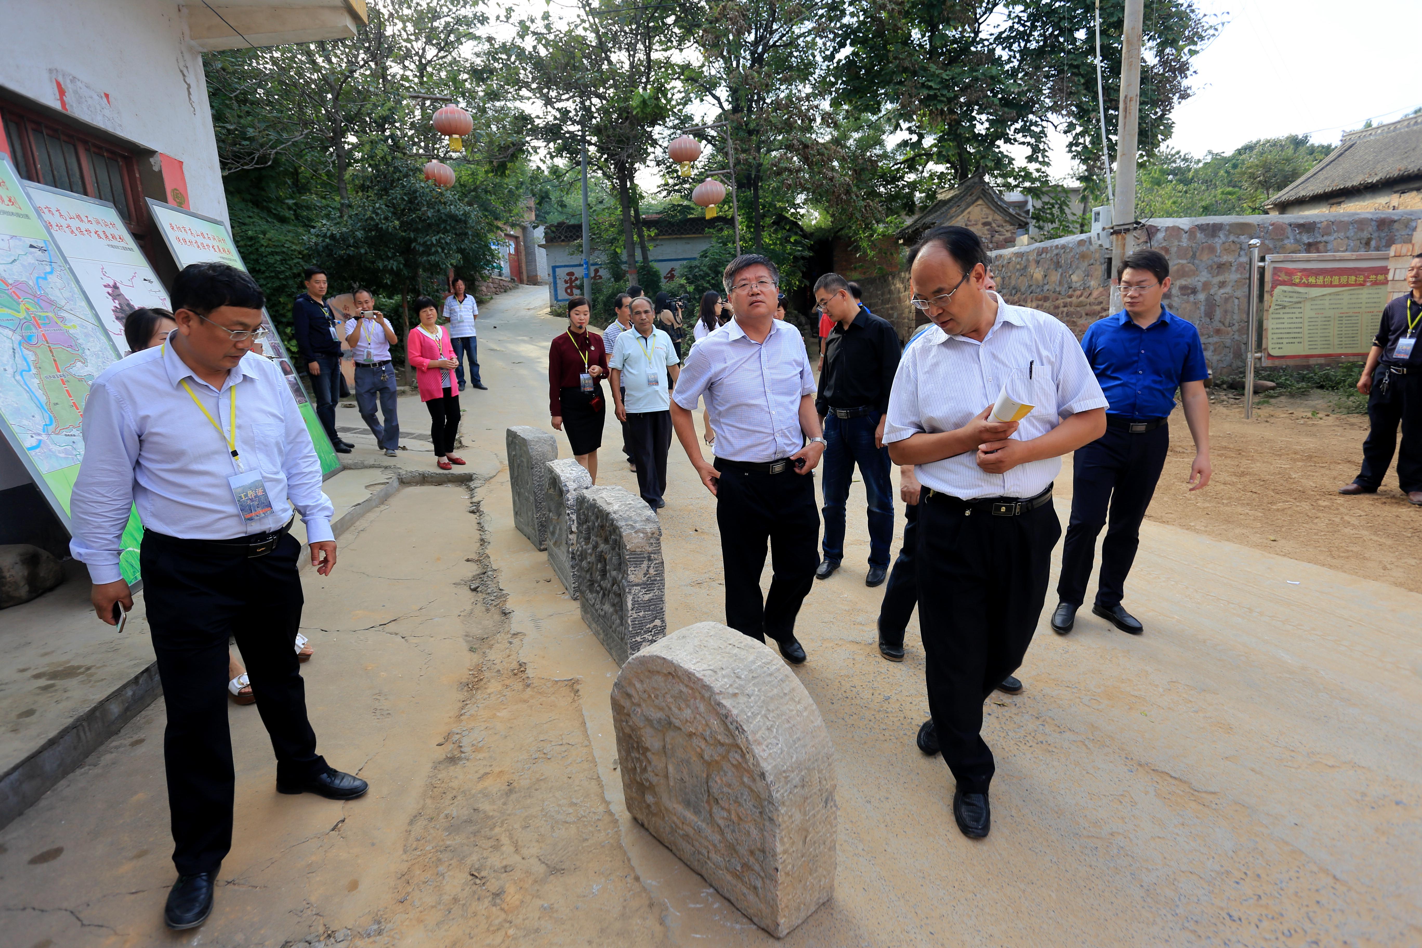
{"label": "man in long-sleeved pale shirt with yellow lanyard, looking down", "polygon": [[129,507],[144,523],[139,564],[164,686],[164,760],[178,881],[171,928],[201,925],[232,849],[228,638],[252,677],[276,752],[279,793],[350,800],[367,785],[316,753],[296,657],[301,624],[300,544],[336,566],[331,502],[282,371],[252,354],[262,290],[222,263],[185,267],[172,287],[173,330],[162,345],[104,370],[84,405],[84,460],[71,500],[70,550],[88,566],[98,617],[134,607],[118,570]]}

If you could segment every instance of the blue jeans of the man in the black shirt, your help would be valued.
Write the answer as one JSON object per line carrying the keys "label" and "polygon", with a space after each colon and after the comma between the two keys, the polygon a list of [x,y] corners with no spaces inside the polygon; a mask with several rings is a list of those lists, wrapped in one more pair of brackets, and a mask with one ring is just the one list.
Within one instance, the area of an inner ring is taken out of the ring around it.
{"label": "blue jeans of the man in the black shirt", "polygon": [[859,465],[869,499],[869,566],[889,569],[893,542],[893,485],[889,480],[889,449],[875,448],[879,415],[860,418],[825,416],[825,559],[845,559],[845,502],[849,480]]}

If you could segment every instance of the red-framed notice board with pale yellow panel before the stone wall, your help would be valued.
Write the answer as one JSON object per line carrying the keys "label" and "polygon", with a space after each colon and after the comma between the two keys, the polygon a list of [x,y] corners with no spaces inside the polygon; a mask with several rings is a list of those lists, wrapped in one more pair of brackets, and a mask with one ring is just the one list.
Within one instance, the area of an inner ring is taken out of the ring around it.
{"label": "red-framed notice board with pale yellow panel before the stone wall", "polygon": [[1386,254],[1274,254],[1266,286],[1266,364],[1362,361],[1388,303],[1388,260]]}

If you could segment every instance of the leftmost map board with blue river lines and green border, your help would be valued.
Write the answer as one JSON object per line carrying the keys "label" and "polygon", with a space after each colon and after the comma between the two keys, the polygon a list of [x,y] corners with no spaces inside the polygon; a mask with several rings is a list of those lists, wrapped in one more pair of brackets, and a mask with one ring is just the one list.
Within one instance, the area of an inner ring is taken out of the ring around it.
{"label": "leftmost map board with blue river lines and green border", "polygon": [[[20,175],[0,155],[0,433],[70,529],[84,459],[84,402],[118,350]],[[119,569],[138,580],[138,515],[129,513]]]}

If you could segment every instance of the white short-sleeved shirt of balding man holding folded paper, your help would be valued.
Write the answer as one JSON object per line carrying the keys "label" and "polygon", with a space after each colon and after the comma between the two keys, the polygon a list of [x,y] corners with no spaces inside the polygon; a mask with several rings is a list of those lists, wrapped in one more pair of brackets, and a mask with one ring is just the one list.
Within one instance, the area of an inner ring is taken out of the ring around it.
{"label": "white short-sleeved shirt of balding man holding folded paper", "polygon": [[[1017,374],[1014,385],[1024,384],[1028,367],[1025,391],[1035,408],[1018,424],[1012,435],[1018,441],[1039,438],[1069,415],[1106,406],[1081,344],[1061,320],[994,297],[997,320],[981,343],[930,331],[904,350],[889,397],[884,443],[963,428],[997,401],[1010,375]],[[1048,458],[988,473],[978,468],[975,451],[914,466],[923,486],[964,500],[1032,497],[1059,472],[1061,458]]]}

